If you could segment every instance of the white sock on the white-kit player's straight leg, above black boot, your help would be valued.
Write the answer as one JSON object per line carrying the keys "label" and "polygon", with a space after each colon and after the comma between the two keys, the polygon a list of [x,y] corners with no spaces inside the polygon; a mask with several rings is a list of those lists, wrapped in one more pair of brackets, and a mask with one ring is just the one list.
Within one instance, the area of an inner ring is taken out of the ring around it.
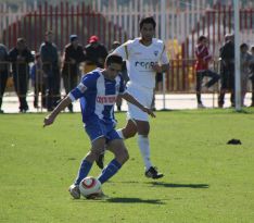
{"label": "white sock on the white-kit player's straight leg, above black boot", "polygon": [[142,154],[143,162],[145,165],[145,171],[148,171],[151,166],[151,160],[150,160],[150,143],[149,138],[147,136],[138,135],[138,144],[139,144],[139,150]]}

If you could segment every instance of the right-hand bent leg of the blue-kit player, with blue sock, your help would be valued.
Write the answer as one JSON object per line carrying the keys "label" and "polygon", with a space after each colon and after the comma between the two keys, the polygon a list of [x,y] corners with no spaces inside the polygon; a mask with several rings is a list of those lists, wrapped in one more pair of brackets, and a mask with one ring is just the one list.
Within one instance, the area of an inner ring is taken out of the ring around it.
{"label": "right-hand bent leg of the blue-kit player, with blue sock", "polygon": [[123,139],[111,140],[107,145],[107,150],[113,152],[115,158],[102,170],[100,176],[98,177],[101,184],[114,176],[123,164],[129,159],[129,154]]}

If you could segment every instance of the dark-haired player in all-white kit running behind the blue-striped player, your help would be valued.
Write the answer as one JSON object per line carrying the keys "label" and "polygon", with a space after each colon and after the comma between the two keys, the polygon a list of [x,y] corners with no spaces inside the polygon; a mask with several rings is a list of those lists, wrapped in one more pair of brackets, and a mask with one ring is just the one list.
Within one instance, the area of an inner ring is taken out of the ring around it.
{"label": "dark-haired player in all-white kit running behind the blue-striped player", "polygon": [[[140,38],[128,40],[114,50],[126,61],[129,82],[127,91],[137,98],[142,104],[151,108],[153,89],[155,87],[156,73],[166,72],[169,62],[162,40],[153,38],[156,23],[153,17],[144,17],[140,21]],[[138,145],[145,165],[145,176],[151,178],[163,177],[152,164],[149,143],[149,116],[131,103],[128,103],[127,125],[118,129],[122,138],[130,138],[138,133]]]}

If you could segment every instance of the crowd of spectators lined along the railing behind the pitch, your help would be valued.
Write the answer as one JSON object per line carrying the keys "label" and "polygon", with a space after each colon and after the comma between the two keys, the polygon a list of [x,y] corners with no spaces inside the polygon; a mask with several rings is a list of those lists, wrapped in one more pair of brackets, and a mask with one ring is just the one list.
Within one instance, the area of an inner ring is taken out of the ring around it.
{"label": "crowd of spectators lined along the railing behind the pitch", "polygon": [[[27,47],[24,38],[17,38],[16,46],[8,51],[7,47],[0,44],[0,113],[2,97],[7,87],[8,78],[12,75],[14,89],[20,101],[20,112],[28,111],[26,95],[28,91],[28,79],[31,79],[34,87],[34,108],[43,108],[52,111],[61,100],[61,78],[66,95],[73,89],[81,73],[88,73],[96,67],[103,67],[105,58],[112,53],[120,42],[114,41],[112,49],[107,51],[104,45],[99,41],[98,36],[91,36],[87,46],[81,46],[77,35],[69,36],[69,42],[63,50],[62,58],[59,57],[59,49],[53,42],[53,33],[46,32],[45,41],[38,52],[33,52]],[[251,82],[252,102],[254,107],[254,46],[245,42],[240,46],[240,73],[241,73],[241,106],[244,106],[244,97]],[[195,46],[195,91],[198,108],[205,108],[202,102],[202,92],[207,91],[216,83],[219,83],[218,108],[225,104],[225,95],[230,92],[231,107],[234,107],[234,40],[233,35],[227,34],[225,42],[219,49],[219,72],[212,71],[209,63],[214,57],[209,52],[208,38],[204,35],[198,38]],[[33,66],[30,67],[30,63]],[[61,65],[60,65],[61,64]],[[80,70],[80,64],[85,64]],[[129,80],[126,62],[123,63],[122,75],[125,84]],[[206,78],[204,78],[206,77]],[[203,83],[207,79],[207,83]],[[155,90],[162,91],[163,73],[155,74]],[[39,100],[39,96],[41,97]],[[39,101],[41,104],[39,104]],[[151,107],[155,110],[154,95]],[[118,111],[122,110],[122,99],[116,102]],[[73,112],[69,104],[68,111]]]}

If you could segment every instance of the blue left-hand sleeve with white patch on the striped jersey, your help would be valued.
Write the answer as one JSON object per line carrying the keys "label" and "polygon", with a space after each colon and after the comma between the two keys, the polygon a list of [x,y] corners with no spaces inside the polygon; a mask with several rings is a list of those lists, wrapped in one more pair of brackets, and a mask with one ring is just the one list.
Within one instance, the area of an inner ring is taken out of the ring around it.
{"label": "blue left-hand sleeve with white patch on the striped jersey", "polygon": [[86,91],[94,88],[97,78],[92,74],[87,74],[81,82],[68,94],[72,101],[75,101],[84,96]]}

